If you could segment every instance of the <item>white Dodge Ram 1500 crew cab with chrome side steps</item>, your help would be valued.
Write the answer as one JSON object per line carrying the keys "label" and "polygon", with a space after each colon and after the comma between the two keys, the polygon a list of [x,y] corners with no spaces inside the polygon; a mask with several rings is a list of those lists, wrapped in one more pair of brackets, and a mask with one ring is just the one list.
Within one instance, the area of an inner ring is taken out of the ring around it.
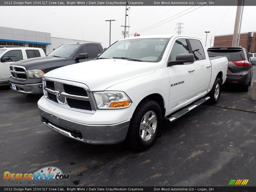
{"label": "white Dodge Ram 1500 crew cab with chrome side steps", "polygon": [[42,122],[91,144],[126,140],[137,150],[156,141],[170,122],[209,100],[217,103],[226,57],[209,58],[201,39],[154,35],[122,39],[94,61],[43,76]]}

